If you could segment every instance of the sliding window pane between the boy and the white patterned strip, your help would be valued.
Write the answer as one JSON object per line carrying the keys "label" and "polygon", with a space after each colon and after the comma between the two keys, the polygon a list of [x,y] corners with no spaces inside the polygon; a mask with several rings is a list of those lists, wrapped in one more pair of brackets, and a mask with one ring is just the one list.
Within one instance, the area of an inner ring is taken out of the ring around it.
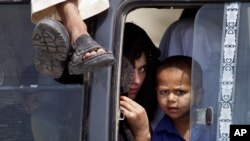
{"label": "sliding window pane between the boy and the white patterned strip", "polygon": [[[198,64],[193,63],[192,71],[192,141],[212,141],[216,138],[223,9],[224,5],[206,5],[199,9],[195,18],[193,58]],[[200,76],[201,73],[203,76]],[[200,90],[202,87],[204,90]],[[210,125],[206,124],[208,107],[213,110],[211,117],[215,118]]]}

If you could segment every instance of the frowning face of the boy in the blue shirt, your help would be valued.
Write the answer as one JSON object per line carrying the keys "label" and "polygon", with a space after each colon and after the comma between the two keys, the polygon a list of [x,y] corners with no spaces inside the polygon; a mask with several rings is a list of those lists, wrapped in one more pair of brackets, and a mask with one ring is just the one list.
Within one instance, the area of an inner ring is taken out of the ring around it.
{"label": "frowning face of the boy in the blue shirt", "polygon": [[186,71],[167,68],[157,75],[157,98],[162,110],[173,120],[189,120],[191,79]]}

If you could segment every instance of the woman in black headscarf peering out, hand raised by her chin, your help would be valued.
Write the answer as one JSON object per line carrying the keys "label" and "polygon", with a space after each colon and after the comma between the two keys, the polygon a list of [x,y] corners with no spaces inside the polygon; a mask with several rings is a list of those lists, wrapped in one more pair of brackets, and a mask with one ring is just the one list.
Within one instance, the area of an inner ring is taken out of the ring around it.
{"label": "woman in black headscarf peering out, hand raised by her chin", "polygon": [[[122,90],[127,91],[123,91],[120,98],[125,115],[125,121],[120,122],[120,140],[146,141],[151,138],[149,123],[157,107],[154,79],[159,55],[160,51],[142,28],[126,23],[123,63],[128,60],[132,67],[122,68],[121,78],[129,81],[121,80]],[[124,84],[126,82],[128,84]]]}

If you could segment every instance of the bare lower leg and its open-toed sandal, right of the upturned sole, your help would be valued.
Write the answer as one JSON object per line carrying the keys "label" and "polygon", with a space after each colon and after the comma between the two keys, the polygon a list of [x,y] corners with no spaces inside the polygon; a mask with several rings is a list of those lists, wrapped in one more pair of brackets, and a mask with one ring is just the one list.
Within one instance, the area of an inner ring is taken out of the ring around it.
{"label": "bare lower leg and its open-toed sandal, right of the upturned sole", "polygon": [[77,0],[60,3],[56,8],[72,43],[69,74],[82,74],[114,64],[113,54],[89,36],[87,25],[78,11]]}

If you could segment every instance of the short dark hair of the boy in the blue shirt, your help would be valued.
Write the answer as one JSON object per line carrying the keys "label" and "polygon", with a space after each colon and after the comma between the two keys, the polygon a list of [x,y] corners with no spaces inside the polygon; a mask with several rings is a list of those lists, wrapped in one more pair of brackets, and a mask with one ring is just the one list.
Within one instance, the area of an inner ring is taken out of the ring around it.
{"label": "short dark hair of the boy in the blue shirt", "polygon": [[164,69],[170,67],[178,68],[180,70],[186,70],[188,72],[188,75],[190,76],[190,79],[191,76],[194,75],[195,80],[192,80],[193,88],[194,89],[202,88],[202,77],[203,77],[202,69],[200,64],[196,60],[192,59],[189,56],[183,56],[183,55],[168,57],[165,60],[163,60],[159,65],[156,71],[156,76],[158,76],[158,74]]}

